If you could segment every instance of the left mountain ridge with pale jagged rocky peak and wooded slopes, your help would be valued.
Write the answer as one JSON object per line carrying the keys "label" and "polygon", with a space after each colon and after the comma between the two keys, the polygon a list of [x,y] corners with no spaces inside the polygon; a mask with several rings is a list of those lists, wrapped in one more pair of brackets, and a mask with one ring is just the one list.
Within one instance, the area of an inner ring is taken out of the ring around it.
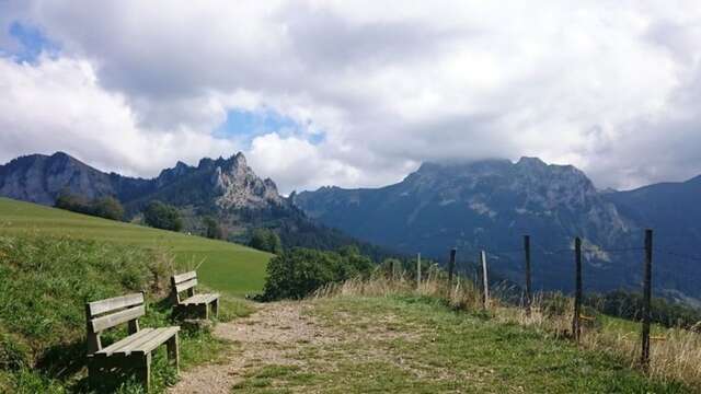
{"label": "left mountain ridge with pale jagged rocky peak and wooded slopes", "polygon": [[197,166],[177,162],[150,179],[104,173],[64,152],[20,157],[0,165],[0,196],[54,205],[64,192],[94,199],[113,196],[129,218],[158,199],[180,208],[187,231],[203,232],[202,217],[212,216],[234,241],[253,228],[275,229],[287,246],[335,248],[357,244],[377,257],[378,248],[310,220],[269,179],[260,178],[242,153],[202,159]]}

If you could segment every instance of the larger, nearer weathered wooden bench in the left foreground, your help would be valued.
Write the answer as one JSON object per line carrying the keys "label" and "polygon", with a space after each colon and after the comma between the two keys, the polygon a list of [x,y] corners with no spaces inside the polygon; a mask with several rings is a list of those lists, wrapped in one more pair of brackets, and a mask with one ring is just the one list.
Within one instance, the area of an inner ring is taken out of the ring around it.
{"label": "larger, nearer weathered wooden bench in the left foreground", "polygon": [[[168,358],[179,369],[177,349],[179,326],[139,329],[139,317],[146,308],[143,293],[115,297],[85,304],[88,325],[88,379],[95,387],[105,384],[111,378],[134,374],[149,391],[151,376],[151,352],[166,344]],[[119,324],[127,323],[129,336],[105,348],[101,334]]]}

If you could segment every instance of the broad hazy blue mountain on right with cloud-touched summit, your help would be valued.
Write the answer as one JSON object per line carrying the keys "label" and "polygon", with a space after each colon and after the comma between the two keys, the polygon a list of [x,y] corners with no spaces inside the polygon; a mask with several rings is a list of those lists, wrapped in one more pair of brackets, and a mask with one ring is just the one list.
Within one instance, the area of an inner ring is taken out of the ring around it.
{"label": "broad hazy blue mountain on right with cloud-touched summit", "polygon": [[[444,257],[457,246],[463,260],[492,251],[491,264],[522,281],[522,235],[532,240],[533,280],[571,290],[573,237],[585,240],[587,290],[634,287],[641,281],[643,229],[660,240],[685,233],[686,248],[701,244],[701,177],[633,192],[596,189],[572,165],[539,159],[425,163],[402,182],[380,187],[322,187],[295,196],[309,216],[353,236],[405,253]],[[685,223],[675,228],[675,220]],[[662,245],[662,244],[659,244]],[[445,258],[445,257],[444,257]],[[657,257],[655,285],[670,296],[701,297],[692,278],[701,264]]]}

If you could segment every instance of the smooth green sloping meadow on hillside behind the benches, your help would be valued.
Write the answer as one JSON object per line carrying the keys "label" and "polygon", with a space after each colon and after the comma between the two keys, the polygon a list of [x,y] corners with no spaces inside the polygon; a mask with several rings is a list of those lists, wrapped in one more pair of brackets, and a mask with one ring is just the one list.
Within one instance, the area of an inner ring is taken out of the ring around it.
{"label": "smooth green sloping meadow on hillside behind the benches", "polygon": [[0,234],[85,239],[139,247],[164,247],[179,270],[194,268],[203,283],[232,296],[258,292],[272,255],[238,244],[94,218],[0,198]]}

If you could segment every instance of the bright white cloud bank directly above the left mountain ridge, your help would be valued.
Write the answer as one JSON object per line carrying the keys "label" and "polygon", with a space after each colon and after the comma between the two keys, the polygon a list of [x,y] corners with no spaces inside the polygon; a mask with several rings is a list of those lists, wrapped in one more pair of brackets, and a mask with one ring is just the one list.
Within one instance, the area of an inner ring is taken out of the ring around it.
{"label": "bright white cloud bank directly above the left mountain ridge", "polygon": [[174,164],[174,155],[193,162],[235,149],[187,128],[138,127],[124,97],[103,90],[84,60],[43,57],[28,65],[0,58],[0,86],[2,161],[62,150],[101,169],[156,175]]}

